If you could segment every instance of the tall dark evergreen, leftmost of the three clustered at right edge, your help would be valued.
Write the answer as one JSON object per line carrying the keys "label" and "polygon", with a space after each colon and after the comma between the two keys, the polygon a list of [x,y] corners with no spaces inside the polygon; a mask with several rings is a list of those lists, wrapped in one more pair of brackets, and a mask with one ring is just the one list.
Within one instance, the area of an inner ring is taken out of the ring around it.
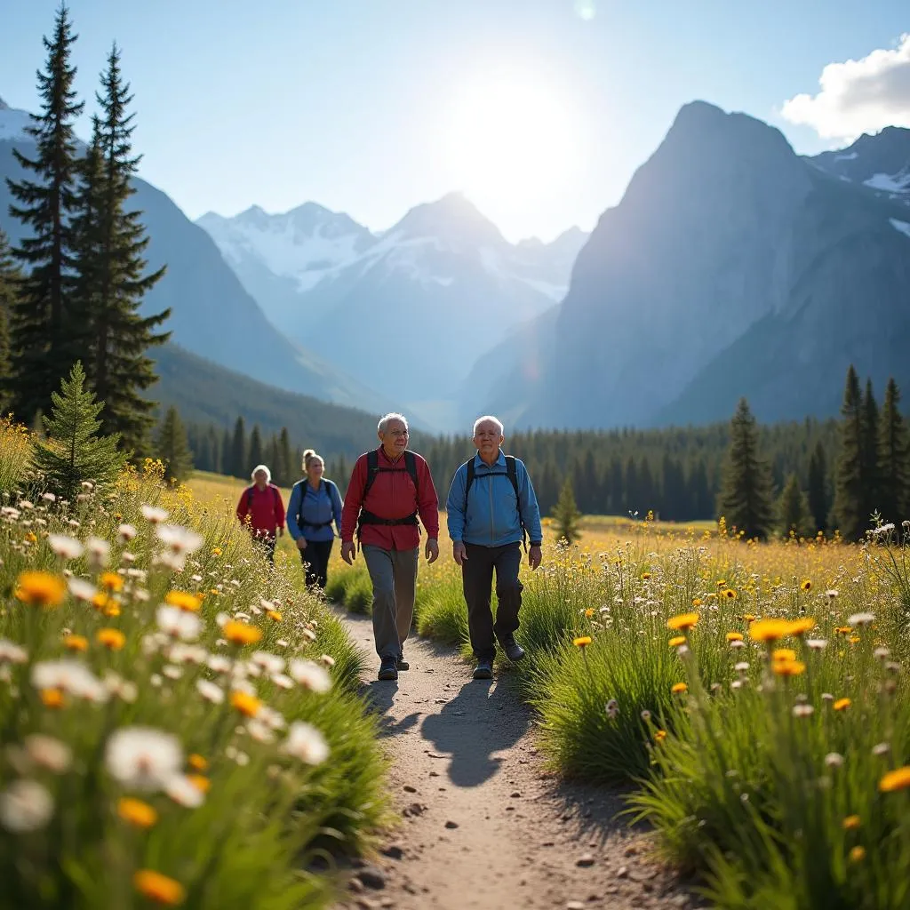
{"label": "tall dark evergreen, leftmost of the three clustered at right edge", "polygon": [[870,518],[870,513],[865,511],[863,394],[853,364],[847,370],[841,415],[844,420],[841,421],[840,451],[834,466],[834,521],[831,523],[844,538],[853,541],[863,536]]}

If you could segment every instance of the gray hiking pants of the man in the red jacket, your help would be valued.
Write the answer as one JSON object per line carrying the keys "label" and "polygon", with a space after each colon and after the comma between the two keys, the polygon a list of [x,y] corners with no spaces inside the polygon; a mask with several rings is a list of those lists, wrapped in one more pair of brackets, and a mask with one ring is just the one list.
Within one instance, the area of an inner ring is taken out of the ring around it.
{"label": "gray hiking pants of the man in the red jacket", "polygon": [[373,582],[373,639],[380,658],[399,657],[410,634],[420,550],[383,550],[367,544],[369,580]]}

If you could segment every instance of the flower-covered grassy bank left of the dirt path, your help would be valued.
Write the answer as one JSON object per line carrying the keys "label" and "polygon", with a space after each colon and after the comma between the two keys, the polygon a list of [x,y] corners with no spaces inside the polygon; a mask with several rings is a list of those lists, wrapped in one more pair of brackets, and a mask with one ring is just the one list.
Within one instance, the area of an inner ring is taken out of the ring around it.
{"label": "flower-covered grassy bank left of the dirt path", "polygon": [[0,907],[327,905],[306,870],[387,820],[384,759],[296,553],[272,570],[236,501],[151,462],[35,495],[22,440],[0,427]]}

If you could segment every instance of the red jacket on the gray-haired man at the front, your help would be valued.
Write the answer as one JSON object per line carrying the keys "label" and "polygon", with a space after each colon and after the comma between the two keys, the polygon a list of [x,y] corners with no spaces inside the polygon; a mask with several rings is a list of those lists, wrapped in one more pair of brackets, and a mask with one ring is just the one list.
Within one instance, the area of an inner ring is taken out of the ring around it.
{"label": "red jacket on the gray-haired man at the front", "polygon": [[[415,491],[414,482],[405,466],[404,455],[399,455],[398,460],[392,461],[381,446],[378,451],[379,466],[394,470],[379,471],[369,488],[367,500],[364,501],[367,455],[364,453],[359,457],[351,472],[344,509],[341,511],[341,540],[354,540],[361,506],[381,518],[407,518],[417,511],[427,535],[430,538],[439,537],[440,502],[427,462],[414,453],[418,480],[418,489]],[[365,524],[360,531],[360,542],[382,547],[383,550],[413,550],[420,546],[420,528],[416,524]]]}

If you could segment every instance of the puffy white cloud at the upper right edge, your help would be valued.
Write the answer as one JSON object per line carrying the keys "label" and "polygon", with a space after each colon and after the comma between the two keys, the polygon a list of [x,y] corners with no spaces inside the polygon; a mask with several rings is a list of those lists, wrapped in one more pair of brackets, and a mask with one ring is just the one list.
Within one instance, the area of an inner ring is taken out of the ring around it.
{"label": "puffy white cloud at the upper right edge", "polygon": [[848,142],[885,126],[910,126],[910,34],[901,35],[893,50],[828,64],[818,83],[817,95],[784,102],[785,119]]}

